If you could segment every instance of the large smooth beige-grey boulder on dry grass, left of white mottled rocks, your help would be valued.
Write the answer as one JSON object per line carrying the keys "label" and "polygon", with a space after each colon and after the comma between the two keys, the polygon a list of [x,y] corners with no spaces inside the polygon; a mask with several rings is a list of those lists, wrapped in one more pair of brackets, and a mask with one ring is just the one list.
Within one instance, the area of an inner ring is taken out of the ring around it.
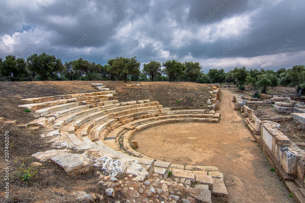
{"label": "large smooth beige-grey boulder on dry grass, left of white mottled rocks", "polygon": [[59,154],[51,160],[72,176],[88,172],[94,161],[88,154],[71,153]]}

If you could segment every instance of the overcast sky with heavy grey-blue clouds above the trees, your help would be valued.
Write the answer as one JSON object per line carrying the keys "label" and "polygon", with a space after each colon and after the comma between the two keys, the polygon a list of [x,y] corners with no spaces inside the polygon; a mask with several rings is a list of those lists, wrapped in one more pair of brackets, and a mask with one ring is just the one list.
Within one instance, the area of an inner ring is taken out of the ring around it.
{"label": "overcast sky with heavy grey-blue clouds above the trees", "polygon": [[1,0],[0,57],[46,52],[278,70],[305,64],[304,0]]}

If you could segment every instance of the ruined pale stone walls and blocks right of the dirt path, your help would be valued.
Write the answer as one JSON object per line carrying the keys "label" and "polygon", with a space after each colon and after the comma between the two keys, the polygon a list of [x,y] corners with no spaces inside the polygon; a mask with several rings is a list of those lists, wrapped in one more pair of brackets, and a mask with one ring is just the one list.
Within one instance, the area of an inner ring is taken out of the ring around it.
{"label": "ruined pale stone walls and blocks right of the dirt path", "polygon": [[[290,98],[289,98],[290,99]],[[281,98],[279,99],[281,100]],[[260,137],[267,145],[267,148],[271,151],[272,155],[278,161],[279,165],[288,175],[299,178],[302,183],[305,182],[305,151],[300,149],[291,140],[285,136],[281,131],[281,125],[273,121],[261,121],[256,117],[254,110],[251,110],[248,106],[244,105],[246,102],[241,96],[233,95],[233,101],[235,102],[235,109],[241,110],[241,112],[249,117],[249,120],[254,123],[254,129],[260,132]],[[252,102],[251,102],[252,103]],[[254,103],[254,102],[253,102]],[[258,103],[258,102],[255,102]],[[259,101],[259,103],[261,103]],[[295,104],[279,103],[280,106],[294,106]],[[300,106],[300,104],[298,107]],[[303,114],[291,114],[291,116],[277,116],[269,118],[275,121],[291,120],[292,118],[299,120],[305,124],[305,116]],[[264,118],[265,119],[265,118]],[[262,146],[263,147],[263,146]],[[264,148],[264,147],[263,147]],[[264,149],[267,150],[267,149]]]}

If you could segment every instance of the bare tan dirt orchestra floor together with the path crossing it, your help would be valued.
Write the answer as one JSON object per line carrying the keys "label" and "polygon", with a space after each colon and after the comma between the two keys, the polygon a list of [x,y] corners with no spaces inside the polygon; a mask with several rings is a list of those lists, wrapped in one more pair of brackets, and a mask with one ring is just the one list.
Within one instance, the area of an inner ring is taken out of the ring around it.
{"label": "bare tan dirt orchestra floor together with the path crossing it", "polygon": [[[216,166],[224,173],[229,202],[295,202],[250,131],[234,110],[232,93],[221,90],[221,120],[174,123],[136,133],[138,152],[176,164]],[[189,140],[196,137],[197,140]],[[149,139],[148,139],[149,138]]]}

